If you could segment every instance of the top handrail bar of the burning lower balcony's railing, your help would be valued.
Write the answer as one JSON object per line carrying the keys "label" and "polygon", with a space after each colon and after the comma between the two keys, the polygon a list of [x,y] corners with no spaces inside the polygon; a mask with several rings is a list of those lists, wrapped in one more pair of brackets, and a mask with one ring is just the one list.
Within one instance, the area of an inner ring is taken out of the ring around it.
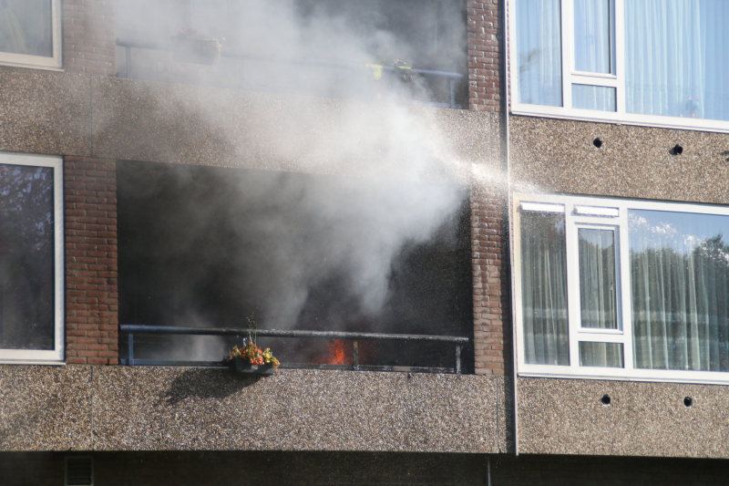
{"label": "top handrail bar of the burning lower balcony's railing", "polygon": [[145,326],[141,324],[123,324],[119,326],[123,333],[134,334],[175,334],[189,336],[248,336],[255,332],[266,337],[313,337],[317,339],[360,339],[373,341],[435,341],[438,343],[467,343],[469,339],[462,336],[431,336],[417,334],[385,334],[385,333],[350,333],[340,331],[302,331],[275,329],[232,329],[213,327],[180,327],[180,326]]}

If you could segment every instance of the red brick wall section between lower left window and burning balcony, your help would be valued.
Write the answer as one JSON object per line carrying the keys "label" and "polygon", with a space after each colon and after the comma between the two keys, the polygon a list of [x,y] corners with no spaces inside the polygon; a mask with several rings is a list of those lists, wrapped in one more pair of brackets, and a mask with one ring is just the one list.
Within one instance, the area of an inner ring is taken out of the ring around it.
{"label": "red brick wall section between lower left window and burning balcony", "polygon": [[118,364],[117,170],[66,157],[66,362]]}

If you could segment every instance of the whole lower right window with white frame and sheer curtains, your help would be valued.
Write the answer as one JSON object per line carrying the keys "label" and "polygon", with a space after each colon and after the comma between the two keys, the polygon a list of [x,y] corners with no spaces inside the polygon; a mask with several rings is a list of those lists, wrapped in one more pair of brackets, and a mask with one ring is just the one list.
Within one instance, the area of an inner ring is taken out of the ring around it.
{"label": "whole lower right window with white frame and sheer curtains", "polygon": [[729,208],[515,196],[519,373],[729,382]]}

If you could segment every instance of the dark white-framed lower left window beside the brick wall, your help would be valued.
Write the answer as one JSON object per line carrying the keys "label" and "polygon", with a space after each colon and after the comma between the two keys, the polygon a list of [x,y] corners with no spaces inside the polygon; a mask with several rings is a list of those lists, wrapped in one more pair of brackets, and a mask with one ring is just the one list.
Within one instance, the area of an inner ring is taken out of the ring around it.
{"label": "dark white-framed lower left window beside the brick wall", "polygon": [[63,358],[61,160],[0,153],[0,361]]}

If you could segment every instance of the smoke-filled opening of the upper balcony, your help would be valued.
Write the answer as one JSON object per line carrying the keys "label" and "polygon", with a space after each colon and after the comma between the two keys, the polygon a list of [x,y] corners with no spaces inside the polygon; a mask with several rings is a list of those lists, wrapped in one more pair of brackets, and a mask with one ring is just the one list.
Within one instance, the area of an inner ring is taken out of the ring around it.
{"label": "smoke-filled opening of the upper balcony", "polygon": [[129,0],[115,10],[118,76],[465,107],[465,6],[460,0]]}

